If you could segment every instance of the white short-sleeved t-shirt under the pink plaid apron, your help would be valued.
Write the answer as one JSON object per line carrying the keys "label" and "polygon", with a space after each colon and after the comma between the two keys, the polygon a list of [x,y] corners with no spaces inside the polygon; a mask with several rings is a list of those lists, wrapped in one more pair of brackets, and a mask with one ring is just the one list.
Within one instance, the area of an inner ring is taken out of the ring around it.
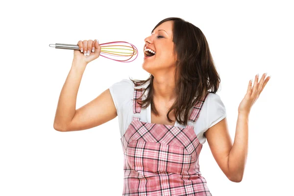
{"label": "white short-sleeved t-shirt under the pink plaid apron", "polygon": [[[132,122],[133,118],[133,98],[134,88],[146,88],[149,85],[149,81],[141,86],[135,87],[134,83],[130,79],[123,79],[120,82],[114,83],[109,87],[110,94],[115,104],[118,118],[121,138],[123,137],[127,127]],[[144,92],[144,91],[143,91]],[[142,100],[146,98],[148,89],[142,97]],[[194,123],[194,130],[199,142],[203,145],[206,141],[203,133],[211,126],[219,123],[226,117],[226,109],[221,101],[219,95],[209,93],[205,99],[203,106],[200,110],[198,119]],[[150,104],[146,109],[141,109],[140,121],[151,123],[151,106]],[[184,128],[185,125],[179,124],[177,121],[174,126]]]}

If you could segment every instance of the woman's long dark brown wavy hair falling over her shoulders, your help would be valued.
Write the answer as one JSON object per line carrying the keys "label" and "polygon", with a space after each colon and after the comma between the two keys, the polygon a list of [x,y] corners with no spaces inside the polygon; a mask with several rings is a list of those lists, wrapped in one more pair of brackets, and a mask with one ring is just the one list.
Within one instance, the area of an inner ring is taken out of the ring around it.
{"label": "woman's long dark brown wavy hair falling over her shoulders", "polygon": [[[219,89],[221,78],[216,70],[207,40],[202,31],[195,25],[175,17],[162,20],[153,30],[166,21],[173,21],[173,54],[175,52],[177,54],[174,78],[175,92],[178,92],[175,102],[168,111],[167,118],[169,122],[173,122],[169,114],[174,109],[176,121],[180,124],[187,124],[190,109],[198,101],[202,100],[207,93],[216,93]],[[149,89],[147,98],[145,100],[139,99],[140,101],[137,102],[144,109],[152,103],[151,111],[158,116],[159,113],[153,104],[153,79],[152,74],[147,80],[132,80],[130,78],[135,86],[140,86],[150,81],[150,84],[145,89],[145,91]]]}

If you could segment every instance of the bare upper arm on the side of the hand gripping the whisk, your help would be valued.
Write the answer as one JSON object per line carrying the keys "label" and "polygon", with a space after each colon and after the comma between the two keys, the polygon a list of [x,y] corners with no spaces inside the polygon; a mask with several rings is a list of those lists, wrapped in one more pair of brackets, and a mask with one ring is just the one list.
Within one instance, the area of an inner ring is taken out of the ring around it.
{"label": "bare upper arm on the side of the hand gripping the whisk", "polygon": [[75,111],[66,131],[84,130],[106,123],[117,116],[109,89]]}

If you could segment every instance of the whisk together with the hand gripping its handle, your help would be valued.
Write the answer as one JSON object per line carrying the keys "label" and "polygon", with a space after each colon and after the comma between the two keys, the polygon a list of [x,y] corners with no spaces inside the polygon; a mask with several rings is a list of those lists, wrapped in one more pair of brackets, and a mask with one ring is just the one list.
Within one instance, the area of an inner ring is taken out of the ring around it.
{"label": "whisk together with the hand gripping its handle", "polygon": [[[84,40],[78,41],[77,45],[50,45],[50,47],[55,47],[56,49],[74,49],[75,51],[73,59],[78,61],[83,60],[86,63],[97,59],[99,56],[103,56],[105,58],[119,62],[132,62],[138,56],[138,49],[134,45],[122,41],[99,44],[98,40]],[[130,60],[133,57],[134,59]]]}

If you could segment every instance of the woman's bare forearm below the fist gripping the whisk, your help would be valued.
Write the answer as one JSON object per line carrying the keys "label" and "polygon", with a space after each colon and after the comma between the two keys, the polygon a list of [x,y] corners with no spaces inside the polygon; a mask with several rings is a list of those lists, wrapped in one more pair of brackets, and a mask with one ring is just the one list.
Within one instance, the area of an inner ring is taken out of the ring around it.
{"label": "woman's bare forearm below the fist gripping the whisk", "polygon": [[77,92],[85,68],[85,63],[73,60],[72,68],[59,96],[54,119],[54,128],[63,130],[66,125],[72,121],[75,114]]}

